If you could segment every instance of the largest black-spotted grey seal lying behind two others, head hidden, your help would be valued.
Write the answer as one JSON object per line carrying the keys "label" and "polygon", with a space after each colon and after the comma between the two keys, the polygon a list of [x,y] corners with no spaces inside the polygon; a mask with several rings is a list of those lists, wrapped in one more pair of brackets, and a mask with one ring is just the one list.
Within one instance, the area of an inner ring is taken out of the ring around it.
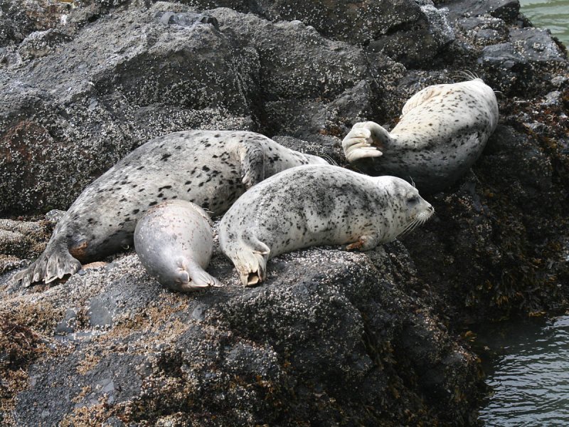
{"label": "largest black-spotted grey seal lying behind two others, head hidden", "polygon": [[223,214],[250,186],[302,164],[327,162],[255,132],[193,130],[151,139],[85,188],[46,250],[13,280],[49,283],[131,246],[138,219],[161,201],[191,201]]}

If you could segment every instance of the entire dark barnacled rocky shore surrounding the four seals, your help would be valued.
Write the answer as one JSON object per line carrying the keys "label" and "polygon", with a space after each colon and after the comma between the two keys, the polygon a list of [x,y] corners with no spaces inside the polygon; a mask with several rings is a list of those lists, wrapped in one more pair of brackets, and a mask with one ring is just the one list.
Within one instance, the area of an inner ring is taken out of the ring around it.
{"label": "entire dark barnacled rocky shore surrounding the four seals", "polygon": [[[0,421],[465,426],[486,389],[463,335],[569,297],[567,51],[514,0],[6,0],[0,5]],[[312,248],[243,289],[164,290],[132,251],[21,289],[80,191],[151,137],[254,130],[346,166],[475,73],[500,124],[436,217],[375,251]],[[46,216],[46,212],[49,214]]]}

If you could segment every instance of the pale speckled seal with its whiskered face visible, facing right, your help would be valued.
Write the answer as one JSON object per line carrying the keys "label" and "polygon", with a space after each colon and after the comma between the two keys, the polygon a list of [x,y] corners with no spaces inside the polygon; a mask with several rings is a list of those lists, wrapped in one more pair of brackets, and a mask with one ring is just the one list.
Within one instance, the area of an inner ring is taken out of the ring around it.
{"label": "pale speckled seal with its whiskered face visible, facing right", "polygon": [[265,280],[267,260],[319,245],[368,251],[424,223],[434,209],[395,176],[294,167],[248,190],[219,225],[220,248],[243,285]]}

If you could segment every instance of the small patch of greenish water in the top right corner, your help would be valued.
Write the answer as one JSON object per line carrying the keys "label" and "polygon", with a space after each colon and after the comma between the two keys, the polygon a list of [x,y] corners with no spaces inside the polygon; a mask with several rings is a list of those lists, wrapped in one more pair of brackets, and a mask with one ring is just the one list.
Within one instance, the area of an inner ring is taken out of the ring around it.
{"label": "small patch of greenish water in the top right corner", "polygon": [[533,26],[549,28],[569,46],[569,0],[520,0],[521,12]]}

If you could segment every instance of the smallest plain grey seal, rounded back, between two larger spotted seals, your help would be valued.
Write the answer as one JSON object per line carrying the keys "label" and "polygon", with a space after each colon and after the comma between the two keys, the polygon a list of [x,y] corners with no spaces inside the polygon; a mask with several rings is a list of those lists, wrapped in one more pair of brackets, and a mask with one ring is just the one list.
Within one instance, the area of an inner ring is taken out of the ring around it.
{"label": "smallest plain grey seal, rounded back, between two larger spotted seals", "polygon": [[190,201],[169,200],[149,209],[134,228],[134,249],[149,275],[166,288],[221,286],[205,271],[213,251],[211,220]]}

